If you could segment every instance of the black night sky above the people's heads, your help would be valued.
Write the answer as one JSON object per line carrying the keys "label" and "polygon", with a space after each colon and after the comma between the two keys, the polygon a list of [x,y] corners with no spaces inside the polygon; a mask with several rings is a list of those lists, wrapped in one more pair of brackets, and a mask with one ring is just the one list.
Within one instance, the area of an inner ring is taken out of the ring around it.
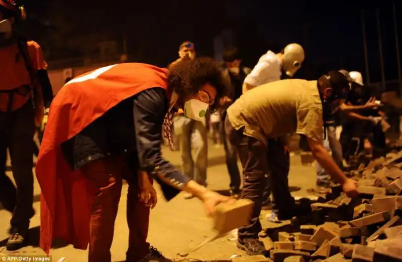
{"label": "black night sky above the people's heads", "polygon": [[305,48],[306,61],[295,77],[314,79],[340,68],[366,77],[364,10],[370,81],[378,82],[375,10],[380,14],[385,78],[394,80],[398,74],[392,3],[397,3],[402,43],[402,3],[398,2],[402,1],[25,0],[30,16],[22,31],[42,45],[48,60],[92,55],[82,43],[91,47],[96,41],[116,40],[120,45],[126,39],[130,61],[166,66],[177,58],[178,45],[186,40],[195,43],[198,56],[214,56],[213,38],[228,28],[249,67],[267,50],[278,52],[296,42]]}

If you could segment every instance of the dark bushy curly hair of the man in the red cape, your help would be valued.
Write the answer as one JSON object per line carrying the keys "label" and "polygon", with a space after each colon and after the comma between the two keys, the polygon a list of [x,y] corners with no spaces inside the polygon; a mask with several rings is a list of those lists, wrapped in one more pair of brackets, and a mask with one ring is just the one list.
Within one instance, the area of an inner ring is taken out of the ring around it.
{"label": "dark bushy curly hair of the man in the red cape", "polygon": [[170,67],[167,83],[182,98],[197,94],[207,83],[214,86],[217,96],[212,109],[217,108],[219,99],[228,91],[228,85],[218,63],[206,57],[195,59],[184,57]]}

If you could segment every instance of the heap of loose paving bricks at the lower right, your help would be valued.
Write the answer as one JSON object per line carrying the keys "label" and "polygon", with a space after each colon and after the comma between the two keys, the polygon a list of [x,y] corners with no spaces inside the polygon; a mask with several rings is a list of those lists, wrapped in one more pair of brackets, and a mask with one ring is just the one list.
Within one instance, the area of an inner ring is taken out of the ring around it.
{"label": "heap of loose paving bricks at the lower right", "polygon": [[[340,187],[311,212],[260,234],[274,262],[402,262],[402,154],[351,172],[359,197]],[[267,261],[267,260],[260,260]]]}

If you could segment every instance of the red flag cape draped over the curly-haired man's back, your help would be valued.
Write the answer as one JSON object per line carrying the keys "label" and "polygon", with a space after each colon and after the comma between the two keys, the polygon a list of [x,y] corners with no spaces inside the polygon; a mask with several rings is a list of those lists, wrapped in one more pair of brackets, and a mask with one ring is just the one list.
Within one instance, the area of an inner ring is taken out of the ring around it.
{"label": "red flag cape draped over the curly-haired man's back", "polygon": [[61,238],[86,249],[93,185],[65,161],[61,144],[119,102],[153,87],[167,90],[167,69],[139,63],[99,68],[63,86],[54,98],[36,164],[41,186],[40,246],[49,254]]}

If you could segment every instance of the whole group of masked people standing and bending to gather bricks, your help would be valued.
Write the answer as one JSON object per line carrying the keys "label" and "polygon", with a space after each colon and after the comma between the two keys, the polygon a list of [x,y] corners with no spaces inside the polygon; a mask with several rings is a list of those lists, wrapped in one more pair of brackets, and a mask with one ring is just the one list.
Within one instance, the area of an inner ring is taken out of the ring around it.
{"label": "whole group of masked people standing and bending to gather bricks", "polygon": [[[26,244],[35,214],[35,147],[27,145],[36,129],[40,245],[49,254],[54,238],[80,249],[89,243],[89,262],[111,261],[123,180],[129,185],[127,261],[170,261],[146,241],[150,208],[157,203],[154,181],[167,201],[184,191],[211,216],[222,202],[252,200],[237,246],[255,255],[265,251],[258,240],[261,209],[272,208],[275,221],[303,215],[289,192],[289,135],[307,140],[319,163],[317,185],[334,181],[350,197],[357,185],[345,176],[344,160],[362,147],[351,148],[350,140],[371,135],[373,158],[385,154],[381,105],[361,74],[336,69],[315,81],[291,79],[305,59],[298,44],[268,51],[250,69],[236,48],[225,50],[219,64],[197,58],[186,41],[168,69],[139,63],[102,67],[68,79],[53,97],[40,46],[16,34],[24,18],[14,0],[0,0],[0,202],[13,213],[8,250]],[[224,146],[231,197],[207,189],[208,126]],[[163,143],[180,151],[181,172],[163,158]],[[16,188],[5,173],[7,149]]]}

